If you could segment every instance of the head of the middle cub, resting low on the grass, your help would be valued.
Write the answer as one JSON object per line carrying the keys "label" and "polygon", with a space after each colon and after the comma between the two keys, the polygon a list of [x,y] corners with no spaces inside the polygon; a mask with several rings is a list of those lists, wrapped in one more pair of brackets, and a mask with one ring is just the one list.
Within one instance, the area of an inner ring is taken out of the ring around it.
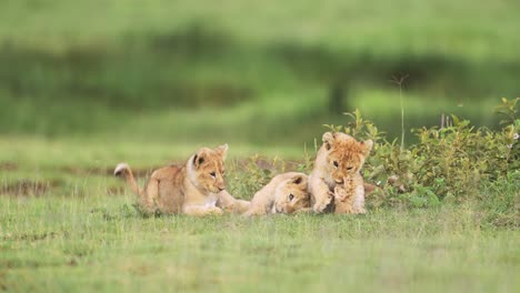
{"label": "head of the middle cub, resting low on the grass", "polygon": [[280,183],[274,190],[272,213],[293,213],[310,206],[307,175],[298,174]]}

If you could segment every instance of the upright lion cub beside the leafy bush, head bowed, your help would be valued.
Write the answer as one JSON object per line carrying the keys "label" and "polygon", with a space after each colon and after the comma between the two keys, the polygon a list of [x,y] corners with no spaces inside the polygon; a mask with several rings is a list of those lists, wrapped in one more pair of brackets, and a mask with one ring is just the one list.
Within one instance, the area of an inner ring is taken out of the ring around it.
{"label": "upright lion cub beside the leafy bush, head bowed", "polygon": [[323,145],[318,151],[314,169],[309,176],[314,212],[321,213],[333,208],[333,191],[337,185],[344,183],[344,178],[353,179],[354,183],[361,179],[361,184],[354,186],[352,209],[358,213],[364,212],[364,188],[360,170],[372,150],[372,144],[371,140],[358,142],[341,132],[323,134]]}

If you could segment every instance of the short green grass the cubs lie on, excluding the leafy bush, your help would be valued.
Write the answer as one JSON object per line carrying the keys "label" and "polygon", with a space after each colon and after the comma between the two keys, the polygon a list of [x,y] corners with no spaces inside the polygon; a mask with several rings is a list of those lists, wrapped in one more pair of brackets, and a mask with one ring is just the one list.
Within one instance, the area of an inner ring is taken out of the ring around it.
{"label": "short green grass the cubs lie on, excluding the leafy bush", "polygon": [[[124,160],[149,170],[181,162],[192,149],[86,139],[0,142],[0,290],[8,292],[520,287],[518,222],[500,206],[509,202],[504,192],[518,199],[518,181],[482,190],[480,202],[358,216],[142,218],[132,206],[136,195],[110,174],[113,165]],[[241,159],[252,151],[231,145],[227,162],[229,190],[243,199],[259,184]],[[280,155],[303,156],[298,150]]]}

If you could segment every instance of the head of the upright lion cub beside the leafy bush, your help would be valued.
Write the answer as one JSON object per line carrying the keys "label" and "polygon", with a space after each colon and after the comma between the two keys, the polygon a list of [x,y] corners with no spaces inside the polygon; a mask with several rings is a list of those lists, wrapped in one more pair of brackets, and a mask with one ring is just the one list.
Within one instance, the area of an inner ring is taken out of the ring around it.
{"label": "head of the upright lion cub beside the leafy bush", "polygon": [[336,183],[343,183],[344,178],[359,173],[372,145],[371,140],[358,142],[354,138],[341,132],[326,132],[323,134],[323,148],[327,152],[324,171]]}

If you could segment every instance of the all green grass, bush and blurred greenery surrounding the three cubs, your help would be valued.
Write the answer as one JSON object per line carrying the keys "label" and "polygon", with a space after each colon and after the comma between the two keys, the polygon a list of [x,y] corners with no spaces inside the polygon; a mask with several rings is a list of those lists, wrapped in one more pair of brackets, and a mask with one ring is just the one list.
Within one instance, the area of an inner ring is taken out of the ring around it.
{"label": "all green grass, bush and blurred greenery surrounding the three cubs", "polygon": [[[0,291],[519,291],[518,11],[1,1]],[[376,141],[366,215],[142,218],[112,176],[228,142],[250,199],[322,124]]]}

